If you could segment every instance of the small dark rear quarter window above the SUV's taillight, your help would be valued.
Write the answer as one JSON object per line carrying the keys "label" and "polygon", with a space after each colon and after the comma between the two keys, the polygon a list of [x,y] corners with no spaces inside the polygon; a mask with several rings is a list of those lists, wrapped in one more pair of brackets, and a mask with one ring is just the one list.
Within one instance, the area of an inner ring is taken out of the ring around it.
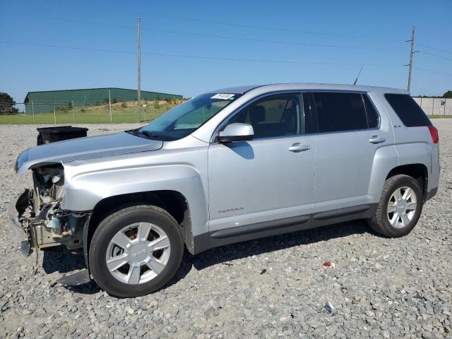
{"label": "small dark rear quarter window above the SUV's taillight", "polygon": [[410,95],[386,93],[384,97],[405,126],[432,126],[432,122]]}

